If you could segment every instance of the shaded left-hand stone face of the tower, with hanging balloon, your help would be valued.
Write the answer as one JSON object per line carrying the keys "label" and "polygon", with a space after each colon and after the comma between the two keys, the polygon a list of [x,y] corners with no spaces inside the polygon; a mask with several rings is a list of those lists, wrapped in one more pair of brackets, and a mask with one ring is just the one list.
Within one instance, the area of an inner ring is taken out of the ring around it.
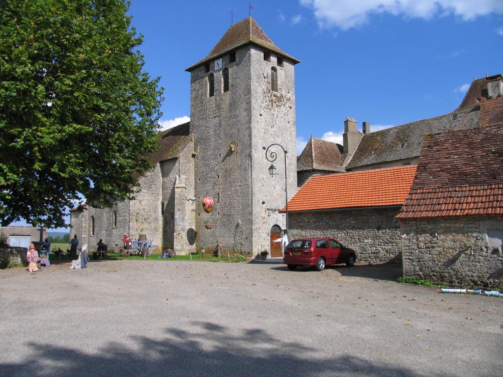
{"label": "shaded left-hand stone face of the tower, with hanging balloon", "polygon": [[[223,92],[222,70],[204,66],[191,72],[190,132],[195,134],[195,223],[198,249],[212,250],[221,240],[226,249],[251,255],[251,88],[249,46],[236,50],[236,61],[223,56],[229,69],[229,91]],[[209,97],[208,75],[214,74],[215,95]],[[235,145],[235,148],[231,148]],[[232,150],[234,149],[234,150]],[[206,213],[201,204],[212,197]],[[243,241],[244,240],[244,241]],[[242,246],[241,246],[242,245]],[[240,248],[243,248],[240,250]]]}

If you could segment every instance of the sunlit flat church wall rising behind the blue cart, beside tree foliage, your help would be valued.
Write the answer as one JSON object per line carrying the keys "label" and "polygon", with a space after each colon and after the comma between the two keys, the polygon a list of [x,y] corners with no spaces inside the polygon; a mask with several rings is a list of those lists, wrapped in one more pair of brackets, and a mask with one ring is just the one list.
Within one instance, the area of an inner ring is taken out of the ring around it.
{"label": "sunlit flat church wall rising behind the blue cart, beside tree foliage", "polygon": [[157,245],[156,252],[162,247],[162,175],[159,164],[139,180],[141,190],[129,202],[129,236],[138,238],[145,234]]}

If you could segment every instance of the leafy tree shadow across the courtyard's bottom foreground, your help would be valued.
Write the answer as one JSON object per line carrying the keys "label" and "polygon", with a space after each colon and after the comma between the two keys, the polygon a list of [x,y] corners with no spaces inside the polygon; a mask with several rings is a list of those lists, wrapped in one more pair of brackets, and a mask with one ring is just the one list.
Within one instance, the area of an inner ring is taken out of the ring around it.
{"label": "leafy tree shadow across the courtyard's bottom foreground", "polygon": [[[239,332],[236,335],[236,332]],[[276,339],[261,329],[229,331],[195,322],[191,331],[159,330],[159,336],[124,338],[89,353],[51,343],[25,344],[30,357],[0,362],[6,376],[278,376],[350,375],[408,376],[408,368],[376,363],[349,354],[315,357],[317,349]],[[356,368],[356,369],[355,369]]]}

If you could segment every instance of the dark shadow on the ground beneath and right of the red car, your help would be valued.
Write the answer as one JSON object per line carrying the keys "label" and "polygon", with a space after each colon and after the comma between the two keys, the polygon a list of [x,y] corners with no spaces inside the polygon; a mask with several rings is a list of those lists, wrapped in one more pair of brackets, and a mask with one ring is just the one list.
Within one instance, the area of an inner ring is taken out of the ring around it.
{"label": "dark shadow on the ground beneath and right of the red car", "polygon": [[[271,269],[288,273],[308,273],[313,271],[319,273],[312,266],[299,266],[295,271],[290,271],[286,265],[271,267]],[[374,280],[396,281],[402,275],[401,263],[360,264],[352,267],[336,264],[326,266],[325,270],[336,270],[342,276],[364,277]]]}

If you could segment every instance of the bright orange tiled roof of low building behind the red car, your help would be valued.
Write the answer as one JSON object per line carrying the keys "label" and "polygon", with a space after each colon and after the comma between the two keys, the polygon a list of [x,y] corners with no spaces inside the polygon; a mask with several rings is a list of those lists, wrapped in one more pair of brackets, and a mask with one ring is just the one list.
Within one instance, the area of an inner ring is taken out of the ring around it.
{"label": "bright orange tiled roof of low building behind the red car", "polygon": [[415,169],[409,165],[314,176],[288,202],[288,211],[401,206]]}

